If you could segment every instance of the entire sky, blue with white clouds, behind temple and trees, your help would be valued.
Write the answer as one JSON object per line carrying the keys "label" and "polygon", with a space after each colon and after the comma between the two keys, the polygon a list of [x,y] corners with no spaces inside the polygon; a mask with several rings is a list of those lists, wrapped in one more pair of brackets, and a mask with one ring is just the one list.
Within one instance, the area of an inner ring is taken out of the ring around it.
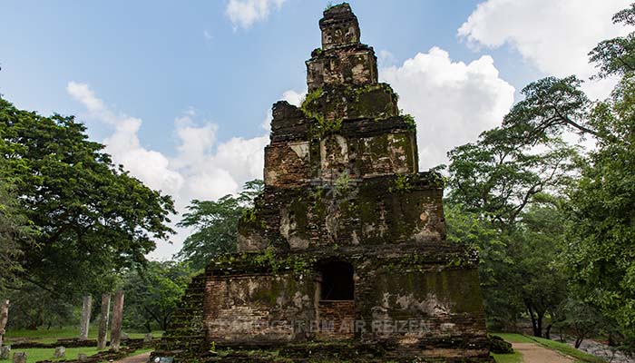
{"label": "entire sky, blue with white clouds, behind temple and trees", "polygon": [[[498,125],[527,83],[588,79],[587,53],[630,29],[630,0],[350,0],[380,79],[415,116],[420,169]],[[74,114],[179,211],[262,178],[271,104],[298,103],[327,1],[3,0],[0,93]],[[587,81],[603,98],[612,81]],[[174,217],[178,221],[180,217]],[[187,231],[159,243],[167,259]]]}

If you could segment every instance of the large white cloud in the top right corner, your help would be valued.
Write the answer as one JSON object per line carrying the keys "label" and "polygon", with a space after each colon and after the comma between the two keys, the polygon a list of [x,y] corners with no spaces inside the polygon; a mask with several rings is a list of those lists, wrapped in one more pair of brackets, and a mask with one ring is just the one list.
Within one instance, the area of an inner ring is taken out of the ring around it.
{"label": "large white cloud in the top right corner", "polygon": [[[588,53],[604,39],[627,34],[611,16],[630,0],[487,0],[458,29],[472,46],[497,48],[509,44],[544,74],[577,74],[588,79],[595,70]],[[591,97],[605,97],[613,80],[587,81]]]}

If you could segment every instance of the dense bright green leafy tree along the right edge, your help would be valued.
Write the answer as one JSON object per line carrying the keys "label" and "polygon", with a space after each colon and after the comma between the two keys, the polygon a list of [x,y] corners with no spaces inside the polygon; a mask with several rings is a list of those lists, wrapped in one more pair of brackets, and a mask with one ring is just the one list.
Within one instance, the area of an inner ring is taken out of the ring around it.
{"label": "dense bright green leafy tree along the right edge", "polygon": [[[635,79],[625,76],[590,122],[609,137],[571,191],[570,243],[562,257],[578,296],[635,343]],[[635,344],[634,344],[635,346]]]}

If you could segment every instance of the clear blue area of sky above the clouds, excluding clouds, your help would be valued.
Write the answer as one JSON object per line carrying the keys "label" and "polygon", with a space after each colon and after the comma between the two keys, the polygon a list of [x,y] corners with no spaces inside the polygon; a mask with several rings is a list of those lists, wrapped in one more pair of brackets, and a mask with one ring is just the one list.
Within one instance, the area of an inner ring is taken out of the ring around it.
{"label": "clear blue area of sky above the clouds, excluding clouds", "polygon": [[[504,79],[532,78],[518,72],[518,54],[474,52],[456,37],[477,1],[351,3],[364,41],[396,61],[437,45],[464,62],[495,53]],[[163,152],[174,146],[164,139],[172,119],[190,107],[230,125],[220,128],[221,139],[255,136],[270,104],[304,86],[326,4],[289,1],[266,22],[234,31],[222,1],[5,3],[0,92],[25,109],[81,114],[66,83],[89,83],[114,108],[151,123],[140,136]],[[87,123],[95,137],[106,136],[103,125]]]}

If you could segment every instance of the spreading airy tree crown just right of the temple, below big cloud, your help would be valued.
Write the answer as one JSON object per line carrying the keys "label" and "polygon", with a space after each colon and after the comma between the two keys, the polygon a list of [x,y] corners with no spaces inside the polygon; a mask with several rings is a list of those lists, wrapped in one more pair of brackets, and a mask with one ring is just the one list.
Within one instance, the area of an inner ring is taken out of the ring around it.
{"label": "spreading airy tree crown just right of the temple, below big cloud", "polygon": [[505,229],[535,195],[566,185],[576,168],[577,149],[551,138],[537,152],[520,137],[523,130],[495,128],[448,152],[448,200]]}

